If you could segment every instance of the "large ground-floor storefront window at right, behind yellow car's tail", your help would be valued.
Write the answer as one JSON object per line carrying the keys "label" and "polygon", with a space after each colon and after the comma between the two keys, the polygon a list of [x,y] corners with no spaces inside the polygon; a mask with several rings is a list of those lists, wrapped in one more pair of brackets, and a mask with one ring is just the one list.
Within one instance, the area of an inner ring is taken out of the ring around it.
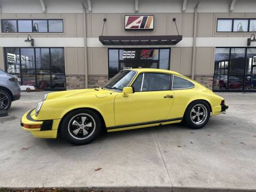
{"label": "large ground-floor storefront window at right, behind yellow car's tail", "polygon": [[216,48],[213,90],[256,90],[256,48]]}

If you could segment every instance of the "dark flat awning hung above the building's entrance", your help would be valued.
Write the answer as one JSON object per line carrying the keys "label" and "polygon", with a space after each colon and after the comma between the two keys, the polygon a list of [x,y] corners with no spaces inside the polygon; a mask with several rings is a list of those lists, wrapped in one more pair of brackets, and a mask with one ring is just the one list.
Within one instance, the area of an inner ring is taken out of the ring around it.
{"label": "dark flat awning hung above the building's entrance", "polygon": [[182,35],[156,36],[99,36],[103,45],[175,45]]}

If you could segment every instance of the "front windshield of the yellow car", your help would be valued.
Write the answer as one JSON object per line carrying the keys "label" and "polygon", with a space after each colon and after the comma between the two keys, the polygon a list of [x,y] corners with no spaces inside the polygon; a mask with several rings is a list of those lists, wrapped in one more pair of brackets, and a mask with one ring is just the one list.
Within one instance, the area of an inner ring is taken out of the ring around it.
{"label": "front windshield of the yellow car", "polygon": [[133,70],[122,70],[111,78],[104,88],[123,91],[123,88],[130,84],[135,75],[136,72]]}

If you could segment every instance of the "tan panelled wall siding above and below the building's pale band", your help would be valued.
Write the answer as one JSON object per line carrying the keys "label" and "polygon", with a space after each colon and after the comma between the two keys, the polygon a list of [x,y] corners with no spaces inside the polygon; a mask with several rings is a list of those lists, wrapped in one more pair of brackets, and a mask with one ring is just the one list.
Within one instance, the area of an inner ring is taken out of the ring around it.
{"label": "tan panelled wall siding above and below the building's pale band", "polygon": [[[54,19],[64,21],[64,32],[30,33],[32,37],[95,37],[102,32],[103,18],[107,18],[103,35],[177,35],[172,18],[177,19],[179,33],[193,37],[194,13],[145,13],[155,16],[154,30],[124,30],[124,15],[135,13],[86,13],[86,27],[83,13],[2,13],[0,19]],[[139,14],[138,14],[139,15]],[[143,13],[140,13],[143,15]],[[217,33],[217,18],[256,18],[256,13],[198,13],[197,37],[249,37],[252,33]],[[28,33],[1,33],[0,37],[24,37]],[[141,46],[143,47],[143,46]],[[161,47],[161,46],[160,46]],[[195,75],[213,75],[214,47],[196,47]],[[86,54],[87,53],[87,58]],[[171,46],[170,69],[184,75],[191,75],[192,47]],[[0,47],[0,68],[4,69],[3,48]],[[87,62],[87,64],[86,64]],[[86,67],[87,65],[87,67]],[[67,75],[107,75],[107,47],[65,47]]]}

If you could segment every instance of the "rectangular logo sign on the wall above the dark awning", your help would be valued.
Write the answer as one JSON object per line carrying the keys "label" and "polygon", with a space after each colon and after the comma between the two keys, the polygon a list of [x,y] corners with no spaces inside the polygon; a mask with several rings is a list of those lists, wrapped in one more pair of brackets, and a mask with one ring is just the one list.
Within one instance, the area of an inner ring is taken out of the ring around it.
{"label": "rectangular logo sign on the wall above the dark awning", "polygon": [[154,29],[154,16],[125,16],[125,29]]}

